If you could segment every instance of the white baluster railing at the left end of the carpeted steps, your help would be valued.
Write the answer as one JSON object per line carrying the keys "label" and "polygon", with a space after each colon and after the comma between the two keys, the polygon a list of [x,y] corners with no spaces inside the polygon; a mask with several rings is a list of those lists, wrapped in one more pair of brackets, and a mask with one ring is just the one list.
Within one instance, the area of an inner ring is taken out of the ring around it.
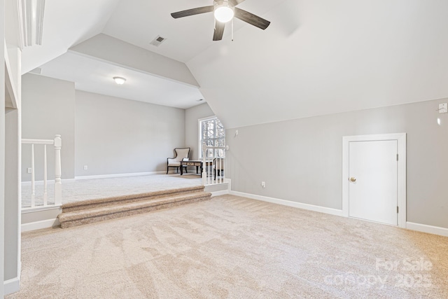
{"label": "white baluster railing at the left end of the carpeted steps", "polygon": [[[22,139],[22,144],[31,144],[31,207],[23,209],[34,209],[36,207],[36,169],[34,167],[34,146],[43,145],[43,206],[60,206],[62,204],[62,181],[61,181],[61,135],[55,139]],[[47,177],[47,146],[53,146],[55,151],[55,204],[48,204],[48,177]]]}

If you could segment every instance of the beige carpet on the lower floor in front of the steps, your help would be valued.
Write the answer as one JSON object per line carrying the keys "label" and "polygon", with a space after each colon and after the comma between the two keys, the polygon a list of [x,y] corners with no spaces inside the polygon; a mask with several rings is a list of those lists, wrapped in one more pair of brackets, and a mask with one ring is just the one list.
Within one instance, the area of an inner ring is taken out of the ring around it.
{"label": "beige carpet on the lower floor in front of the steps", "polygon": [[27,232],[6,298],[448,298],[448,238],[223,195]]}

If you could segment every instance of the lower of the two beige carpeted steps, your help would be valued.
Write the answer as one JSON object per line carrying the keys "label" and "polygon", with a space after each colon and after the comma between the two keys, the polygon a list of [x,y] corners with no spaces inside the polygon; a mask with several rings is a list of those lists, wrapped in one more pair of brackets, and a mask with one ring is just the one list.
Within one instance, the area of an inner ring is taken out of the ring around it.
{"label": "lower of the two beige carpeted steps", "polygon": [[151,198],[149,200],[138,200],[134,202],[118,203],[113,201],[109,206],[94,207],[77,211],[62,211],[59,214],[61,228],[70,228],[72,226],[84,225],[105,221],[113,218],[120,218],[134,214],[141,214],[148,211],[157,211],[169,207],[177,207],[183,204],[201,202],[210,200],[211,193],[195,192],[186,194],[166,195],[165,197]]}

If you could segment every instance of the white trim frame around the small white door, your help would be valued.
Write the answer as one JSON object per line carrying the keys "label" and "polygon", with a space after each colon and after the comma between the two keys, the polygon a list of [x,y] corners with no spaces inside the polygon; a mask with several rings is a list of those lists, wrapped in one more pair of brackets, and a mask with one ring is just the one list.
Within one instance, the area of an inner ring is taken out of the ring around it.
{"label": "white trim frame around the small white door", "polygon": [[349,144],[352,141],[396,140],[398,227],[406,228],[406,133],[373,134],[342,137],[342,215],[349,217]]}

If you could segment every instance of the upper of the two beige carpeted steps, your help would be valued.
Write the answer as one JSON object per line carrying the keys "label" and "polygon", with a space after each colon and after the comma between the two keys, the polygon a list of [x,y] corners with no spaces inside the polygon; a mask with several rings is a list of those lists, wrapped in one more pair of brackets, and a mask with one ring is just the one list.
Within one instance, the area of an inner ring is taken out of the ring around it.
{"label": "upper of the two beige carpeted steps", "polygon": [[132,195],[121,195],[116,197],[106,197],[94,200],[83,200],[80,202],[69,202],[62,204],[62,213],[69,211],[80,211],[85,209],[92,209],[96,207],[109,207],[113,204],[123,204],[125,202],[139,202],[143,200],[153,200],[166,196],[174,196],[178,194],[197,193],[204,191],[204,186],[193,186],[186,188],[176,188],[169,190],[158,190],[149,193],[139,193]]}

